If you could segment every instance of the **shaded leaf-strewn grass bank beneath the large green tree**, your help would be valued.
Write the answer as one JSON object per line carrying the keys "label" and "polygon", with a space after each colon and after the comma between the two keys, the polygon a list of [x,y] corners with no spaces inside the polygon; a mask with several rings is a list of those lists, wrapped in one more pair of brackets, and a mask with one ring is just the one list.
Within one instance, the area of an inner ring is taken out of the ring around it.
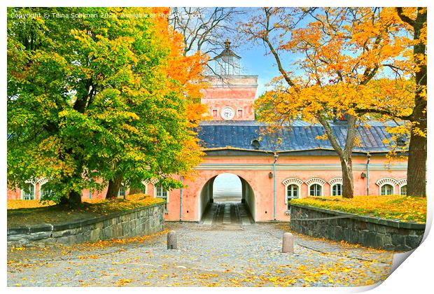
{"label": "shaded leaf-strewn grass bank beneath the large green tree", "polygon": [[8,200],[8,228],[38,223],[62,223],[83,218],[106,216],[116,211],[147,207],[164,202],[145,194],[127,195],[126,200],[84,200],[70,209],[54,202],[41,203],[38,200]]}

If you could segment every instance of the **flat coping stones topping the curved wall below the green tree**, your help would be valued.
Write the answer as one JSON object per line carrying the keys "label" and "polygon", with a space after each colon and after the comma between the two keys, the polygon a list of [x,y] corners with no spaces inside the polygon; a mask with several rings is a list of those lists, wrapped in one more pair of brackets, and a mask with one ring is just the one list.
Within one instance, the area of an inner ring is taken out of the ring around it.
{"label": "flat coping stones topping the curved wall below the green tree", "polygon": [[151,204],[146,207],[137,207],[135,209],[125,210],[125,211],[116,211],[113,214],[109,214],[107,216],[96,216],[93,218],[86,218],[84,220],[78,220],[78,221],[66,221],[57,224],[38,223],[36,225],[22,225],[16,228],[8,228],[8,235],[29,234],[33,232],[56,232],[62,230],[75,229],[75,228],[80,228],[83,225],[90,225],[92,223],[107,221],[111,218],[116,218],[118,216],[123,216],[125,214],[132,214],[136,211],[141,211],[159,205],[162,206],[164,205],[164,203]]}

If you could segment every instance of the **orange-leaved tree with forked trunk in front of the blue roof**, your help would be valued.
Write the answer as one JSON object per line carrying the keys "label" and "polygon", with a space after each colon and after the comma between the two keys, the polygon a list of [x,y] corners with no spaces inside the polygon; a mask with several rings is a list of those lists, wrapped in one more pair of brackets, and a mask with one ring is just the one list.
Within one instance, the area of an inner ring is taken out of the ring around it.
{"label": "orange-leaved tree with forked trunk in front of the blue roof", "polygon": [[[360,104],[377,102],[409,107],[408,80],[395,80],[388,69],[406,43],[399,36],[393,10],[388,8],[260,8],[241,31],[260,42],[274,57],[281,76],[274,88],[257,100],[260,119],[283,124],[295,119],[320,123],[339,155],[343,197],[353,197],[352,153],[357,129],[366,121]],[[292,54],[295,62],[284,64]],[[379,85],[386,91],[378,91]],[[344,119],[342,142],[332,130]],[[321,139],[321,138],[318,138]]]}

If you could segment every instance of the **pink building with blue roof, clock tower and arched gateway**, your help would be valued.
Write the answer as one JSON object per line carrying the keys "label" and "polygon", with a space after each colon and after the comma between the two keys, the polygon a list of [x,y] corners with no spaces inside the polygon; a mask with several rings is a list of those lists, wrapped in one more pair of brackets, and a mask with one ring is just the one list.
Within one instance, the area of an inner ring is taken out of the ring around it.
{"label": "pink building with blue roof, clock tower and arched gateway", "polygon": [[[241,202],[253,221],[289,221],[288,203],[307,195],[340,195],[342,172],[339,158],[323,135],[321,125],[302,121],[284,127],[279,143],[264,134],[262,123],[255,121],[253,102],[258,76],[242,75],[241,57],[230,49],[230,42],[216,58],[217,76],[210,76],[212,87],[204,91],[202,103],[209,106],[212,120],[200,124],[199,137],[207,154],[196,167],[194,179],[183,179],[185,187],[163,190],[158,180],[146,184],[146,193],[167,200],[167,221],[201,221],[214,202],[216,176],[235,174],[241,180]],[[391,140],[384,123],[360,126],[362,146],[354,148],[353,174],[355,195],[407,193],[407,162],[386,158]],[[332,129],[346,136],[345,121],[332,123]],[[369,158],[369,163],[368,163]],[[43,180],[29,183],[31,193],[8,191],[8,199],[38,199]],[[125,188],[119,195],[128,193]],[[104,197],[105,191],[83,191],[83,199]]]}

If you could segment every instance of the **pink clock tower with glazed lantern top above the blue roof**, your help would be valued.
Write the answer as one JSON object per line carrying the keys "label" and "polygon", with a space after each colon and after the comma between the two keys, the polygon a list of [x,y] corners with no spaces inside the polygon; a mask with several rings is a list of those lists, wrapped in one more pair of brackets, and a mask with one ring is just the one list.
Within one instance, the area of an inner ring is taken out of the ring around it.
{"label": "pink clock tower with glazed lantern top above the blue roof", "polygon": [[255,120],[253,102],[258,76],[244,75],[240,59],[225,41],[225,49],[214,57],[214,75],[207,80],[202,104],[207,104],[211,120]]}

